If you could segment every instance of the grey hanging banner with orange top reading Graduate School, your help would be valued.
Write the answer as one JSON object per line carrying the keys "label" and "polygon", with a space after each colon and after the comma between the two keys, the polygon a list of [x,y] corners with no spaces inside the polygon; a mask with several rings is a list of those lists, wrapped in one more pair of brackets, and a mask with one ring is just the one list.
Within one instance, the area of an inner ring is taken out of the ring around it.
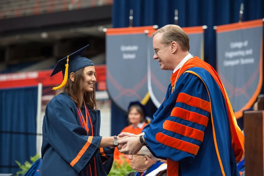
{"label": "grey hanging banner with orange top reading Graduate School", "polygon": [[122,110],[131,101],[149,100],[147,39],[153,26],[113,28],[106,31],[107,91]]}

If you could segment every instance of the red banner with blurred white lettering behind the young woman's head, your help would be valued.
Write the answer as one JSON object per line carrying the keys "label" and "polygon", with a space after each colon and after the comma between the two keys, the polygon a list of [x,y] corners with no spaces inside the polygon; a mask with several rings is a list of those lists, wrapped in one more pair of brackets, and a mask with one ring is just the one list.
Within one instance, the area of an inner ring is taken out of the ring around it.
{"label": "red banner with blurred white lettering behind the young woman's head", "polygon": [[[105,91],[105,65],[96,65],[97,90]],[[53,70],[28,71],[9,74],[0,74],[0,89],[33,87],[42,83],[43,87],[58,86],[62,83],[62,72],[51,76]]]}

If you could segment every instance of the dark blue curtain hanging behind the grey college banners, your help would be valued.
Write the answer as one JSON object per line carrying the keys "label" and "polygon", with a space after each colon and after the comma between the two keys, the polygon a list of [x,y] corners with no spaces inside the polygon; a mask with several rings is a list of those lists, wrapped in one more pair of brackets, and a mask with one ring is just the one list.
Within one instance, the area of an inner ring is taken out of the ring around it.
{"label": "dark blue curtain hanging behind the grey college banners", "polygon": [[[133,9],[133,26],[174,24],[174,10],[178,9],[181,27],[207,25],[204,35],[204,60],[216,68],[216,41],[214,26],[239,21],[241,3],[243,21],[264,17],[263,0],[114,0],[112,24],[114,28],[129,26],[129,10]],[[263,87],[262,87],[263,90]],[[263,91],[262,91],[263,93]],[[114,102],[112,102],[113,104]],[[111,106],[112,135],[125,126],[121,112]],[[154,107],[153,107],[154,108]]]}

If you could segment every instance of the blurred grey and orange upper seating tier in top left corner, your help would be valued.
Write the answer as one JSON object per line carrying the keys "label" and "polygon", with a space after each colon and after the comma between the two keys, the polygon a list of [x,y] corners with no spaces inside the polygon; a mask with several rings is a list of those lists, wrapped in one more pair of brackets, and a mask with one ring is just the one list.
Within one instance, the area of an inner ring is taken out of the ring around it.
{"label": "blurred grey and orange upper seating tier in top left corner", "polygon": [[113,0],[1,0],[0,19],[105,6]]}

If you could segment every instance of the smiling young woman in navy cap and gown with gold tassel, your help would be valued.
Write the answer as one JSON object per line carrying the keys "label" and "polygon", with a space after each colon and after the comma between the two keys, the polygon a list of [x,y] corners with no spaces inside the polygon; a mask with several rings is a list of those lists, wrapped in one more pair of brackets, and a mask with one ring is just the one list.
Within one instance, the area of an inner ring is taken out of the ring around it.
{"label": "smiling young woman in navy cap and gown with gold tassel", "polygon": [[[62,93],[46,106],[40,176],[106,176],[119,137],[100,137],[95,99],[95,67],[82,57],[88,46],[59,60],[51,76],[62,71]],[[117,139],[118,138],[118,139]],[[111,147],[113,148],[113,147]]]}

